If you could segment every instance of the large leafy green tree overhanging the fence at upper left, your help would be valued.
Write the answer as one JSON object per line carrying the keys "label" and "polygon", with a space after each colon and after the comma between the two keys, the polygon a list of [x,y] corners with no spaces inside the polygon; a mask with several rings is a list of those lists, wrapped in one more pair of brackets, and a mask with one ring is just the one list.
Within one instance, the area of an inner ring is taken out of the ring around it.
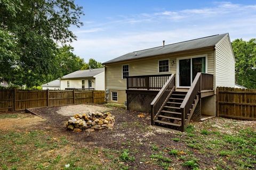
{"label": "large leafy green tree overhanging the fence at upper left", "polygon": [[58,78],[57,43],[76,39],[69,28],[82,25],[82,7],[74,0],[2,0],[0,9],[1,81],[33,87]]}

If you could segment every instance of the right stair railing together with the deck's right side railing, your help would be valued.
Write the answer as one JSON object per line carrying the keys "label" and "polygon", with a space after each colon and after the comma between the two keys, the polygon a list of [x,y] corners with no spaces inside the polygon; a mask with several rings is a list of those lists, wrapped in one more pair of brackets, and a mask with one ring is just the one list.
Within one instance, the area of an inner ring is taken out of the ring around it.
{"label": "right stair railing together with the deck's right side railing", "polygon": [[196,96],[202,90],[213,90],[213,75],[207,73],[197,73],[196,77],[188,90],[182,104],[181,109],[181,131],[185,130],[185,120],[190,113],[190,107],[194,103]]}

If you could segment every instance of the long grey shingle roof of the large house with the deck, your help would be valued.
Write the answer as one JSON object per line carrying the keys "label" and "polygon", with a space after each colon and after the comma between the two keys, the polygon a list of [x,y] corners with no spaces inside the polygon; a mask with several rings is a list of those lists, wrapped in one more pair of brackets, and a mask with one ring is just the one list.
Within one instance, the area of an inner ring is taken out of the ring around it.
{"label": "long grey shingle roof of the large house with the deck", "polygon": [[228,33],[223,33],[221,35],[214,35],[214,36],[203,37],[203,38],[198,38],[198,39],[193,39],[188,41],[182,41],[180,43],[174,43],[174,44],[169,44],[165,46],[138,50],[132,53],[127,53],[125,55],[119,56],[117,58],[114,58],[113,60],[107,61],[102,64],[123,62],[127,60],[134,60],[134,59],[156,56],[161,54],[182,52],[182,51],[192,50],[192,49],[214,47],[226,35],[228,35]]}

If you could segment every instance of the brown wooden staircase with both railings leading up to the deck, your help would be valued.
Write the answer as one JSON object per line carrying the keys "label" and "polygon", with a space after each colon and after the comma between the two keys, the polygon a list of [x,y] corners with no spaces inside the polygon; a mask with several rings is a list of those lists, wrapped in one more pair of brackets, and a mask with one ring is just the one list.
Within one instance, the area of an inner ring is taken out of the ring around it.
{"label": "brown wooden staircase with both railings leading up to the deck", "polygon": [[151,103],[151,124],[183,132],[201,98],[201,91],[213,88],[213,75],[197,73],[189,90],[175,91],[175,74],[166,81]]}

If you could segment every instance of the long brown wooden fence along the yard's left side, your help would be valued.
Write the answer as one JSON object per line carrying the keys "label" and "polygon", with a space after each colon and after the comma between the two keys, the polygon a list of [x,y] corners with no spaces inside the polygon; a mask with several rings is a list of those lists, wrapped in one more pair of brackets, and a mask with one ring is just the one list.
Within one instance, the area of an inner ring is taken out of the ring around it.
{"label": "long brown wooden fence along the yard's left side", "polygon": [[0,90],[0,111],[84,103],[105,103],[105,91]]}

